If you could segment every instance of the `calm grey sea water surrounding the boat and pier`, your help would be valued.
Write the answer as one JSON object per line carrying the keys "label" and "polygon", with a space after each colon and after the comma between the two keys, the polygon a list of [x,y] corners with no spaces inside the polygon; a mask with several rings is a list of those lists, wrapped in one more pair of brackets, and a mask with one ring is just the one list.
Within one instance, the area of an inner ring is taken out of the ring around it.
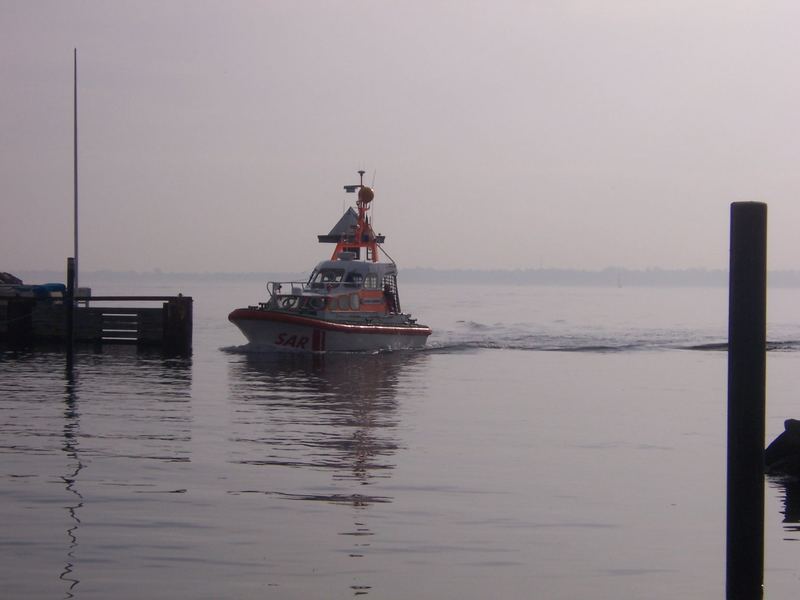
{"label": "calm grey sea water surrounding the boat and pier", "polygon": [[[721,598],[727,290],[403,284],[418,352],[0,351],[3,598]],[[767,439],[800,417],[800,290],[769,292]],[[800,589],[768,480],[765,597]]]}

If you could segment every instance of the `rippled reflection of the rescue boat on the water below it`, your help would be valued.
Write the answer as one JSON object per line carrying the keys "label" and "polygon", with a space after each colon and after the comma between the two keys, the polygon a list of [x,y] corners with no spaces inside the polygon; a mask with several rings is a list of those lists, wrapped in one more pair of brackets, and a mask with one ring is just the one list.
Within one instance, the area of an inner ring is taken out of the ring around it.
{"label": "rippled reflection of the rescue boat on the water below it", "polygon": [[[287,585],[288,574],[315,561],[360,561],[369,553],[377,535],[372,520],[394,500],[381,484],[403,449],[402,407],[424,393],[419,371],[428,359],[424,352],[248,353],[231,361],[229,445],[244,472],[236,475],[242,487],[229,493],[268,497],[292,539],[314,539],[313,549],[271,547],[272,559],[284,561]],[[317,506],[292,507],[294,501]],[[252,506],[264,514],[262,503]],[[334,536],[321,534],[331,527]],[[353,596],[374,591],[374,576],[360,563],[331,564],[339,565],[330,572],[332,586],[346,582]]]}

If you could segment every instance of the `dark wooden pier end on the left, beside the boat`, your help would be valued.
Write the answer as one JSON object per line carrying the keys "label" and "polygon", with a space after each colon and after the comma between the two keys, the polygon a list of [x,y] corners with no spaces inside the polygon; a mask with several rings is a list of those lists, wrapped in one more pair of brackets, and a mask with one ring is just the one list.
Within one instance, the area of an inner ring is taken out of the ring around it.
{"label": "dark wooden pier end on the left, beside the boat", "polygon": [[[14,346],[66,343],[72,329],[75,342],[136,344],[160,347],[170,354],[191,353],[190,296],[76,298],[71,323],[69,300],[69,295],[63,299],[0,298],[0,342]],[[160,306],[140,306],[156,303]]]}

